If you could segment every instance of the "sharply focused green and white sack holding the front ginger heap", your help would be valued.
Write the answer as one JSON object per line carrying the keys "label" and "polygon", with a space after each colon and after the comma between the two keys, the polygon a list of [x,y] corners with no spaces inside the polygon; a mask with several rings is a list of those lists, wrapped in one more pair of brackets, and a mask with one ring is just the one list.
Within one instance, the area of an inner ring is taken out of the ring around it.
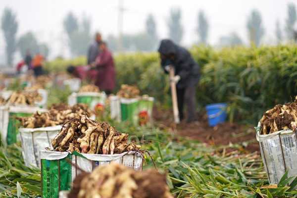
{"label": "sharply focused green and white sack holding the front ginger heap", "polygon": [[78,152],[41,151],[42,198],[58,198],[60,191],[71,190],[80,170],[92,172],[95,167],[116,162],[142,171],[143,156],[139,152],[121,154],[85,154]]}

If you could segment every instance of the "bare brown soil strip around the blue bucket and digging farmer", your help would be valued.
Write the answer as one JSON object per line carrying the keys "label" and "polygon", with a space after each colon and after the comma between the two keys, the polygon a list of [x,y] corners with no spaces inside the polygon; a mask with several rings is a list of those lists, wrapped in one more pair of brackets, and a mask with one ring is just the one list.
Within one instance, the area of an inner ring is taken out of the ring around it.
{"label": "bare brown soil strip around the blue bucket and digging farmer", "polygon": [[256,141],[253,126],[226,122],[216,127],[210,127],[205,112],[198,114],[198,121],[194,123],[182,122],[176,125],[173,122],[172,114],[171,111],[154,108],[153,117],[159,127],[169,127],[177,130],[177,133],[181,136],[199,140],[209,145],[239,144],[243,147],[243,150],[259,151],[259,144]]}

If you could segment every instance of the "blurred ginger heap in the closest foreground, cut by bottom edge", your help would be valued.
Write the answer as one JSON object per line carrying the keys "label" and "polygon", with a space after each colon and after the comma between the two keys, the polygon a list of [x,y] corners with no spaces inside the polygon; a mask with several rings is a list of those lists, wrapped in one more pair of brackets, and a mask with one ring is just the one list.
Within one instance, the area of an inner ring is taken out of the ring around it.
{"label": "blurred ginger heap in the closest foreground, cut by bottom edge", "polygon": [[77,178],[68,198],[173,198],[166,176],[154,169],[139,172],[111,163]]}

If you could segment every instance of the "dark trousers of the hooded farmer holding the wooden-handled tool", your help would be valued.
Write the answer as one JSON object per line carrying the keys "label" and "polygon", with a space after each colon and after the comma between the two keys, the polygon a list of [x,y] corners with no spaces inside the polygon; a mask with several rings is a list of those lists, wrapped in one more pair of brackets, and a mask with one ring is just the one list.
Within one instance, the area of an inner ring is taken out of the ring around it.
{"label": "dark trousers of the hooded farmer holding the wooden-handled tool", "polygon": [[196,86],[188,86],[182,89],[176,88],[176,92],[180,120],[184,119],[184,102],[186,102],[187,121],[194,121],[196,113]]}

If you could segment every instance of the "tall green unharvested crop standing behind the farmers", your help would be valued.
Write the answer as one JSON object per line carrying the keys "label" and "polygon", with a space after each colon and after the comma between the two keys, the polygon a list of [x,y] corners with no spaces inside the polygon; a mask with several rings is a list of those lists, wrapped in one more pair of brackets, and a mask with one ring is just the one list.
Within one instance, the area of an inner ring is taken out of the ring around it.
{"label": "tall green unharvested crop standing behind the farmers", "polygon": [[[297,47],[234,47],[212,49],[194,46],[191,53],[201,66],[197,86],[199,109],[208,103],[227,102],[229,119],[256,124],[263,112],[297,95]],[[168,77],[157,53],[115,55],[117,89],[137,85],[143,94],[170,106]],[[48,62],[49,71],[65,71],[69,64],[84,65],[85,57]],[[116,90],[115,90],[116,91]]]}

